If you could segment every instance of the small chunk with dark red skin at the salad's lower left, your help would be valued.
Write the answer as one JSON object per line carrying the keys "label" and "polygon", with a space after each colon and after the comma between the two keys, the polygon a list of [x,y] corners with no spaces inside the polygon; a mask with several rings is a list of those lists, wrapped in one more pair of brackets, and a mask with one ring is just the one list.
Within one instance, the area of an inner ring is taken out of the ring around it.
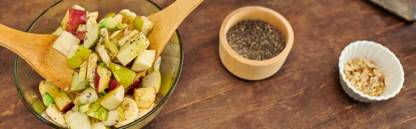
{"label": "small chunk with dark red skin at the salad's lower left", "polygon": [[65,113],[73,107],[73,98],[73,94],[61,91],[53,99],[55,100],[59,110]]}

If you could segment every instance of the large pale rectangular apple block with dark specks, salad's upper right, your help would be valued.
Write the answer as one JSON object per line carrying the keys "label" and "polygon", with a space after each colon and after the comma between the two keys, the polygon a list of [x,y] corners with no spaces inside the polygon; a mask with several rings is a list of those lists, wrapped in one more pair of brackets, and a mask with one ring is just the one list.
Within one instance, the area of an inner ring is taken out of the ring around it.
{"label": "large pale rectangular apple block with dark specks, salad's upper right", "polygon": [[121,47],[119,53],[117,54],[117,59],[119,59],[121,64],[125,66],[135,59],[137,55],[146,50],[148,46],[149,40],[143,33],[139,33],[133,36],[132,39],[128,40],[128,42]]}

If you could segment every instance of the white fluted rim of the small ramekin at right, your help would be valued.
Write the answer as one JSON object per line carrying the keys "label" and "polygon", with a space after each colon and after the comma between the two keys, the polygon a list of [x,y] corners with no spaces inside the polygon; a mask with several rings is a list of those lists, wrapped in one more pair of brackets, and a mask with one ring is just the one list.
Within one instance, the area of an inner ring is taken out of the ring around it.
{"label": "white fluted rim of the small ramekin at right", "polygon": [[[367,94],[363,94],[362,92],[360,92],[356,88],[354,88],[349,83],[349,81],[347,80],[347,78],[345,78],[345,74],[343,72],[344,71],[345,63],[341,64],[341,60],[342,60],[342,58],[344,58],[345,54],[347,53],[346,50],[349,49],[350,47],[354,46],[355,44],[372,44],[374,46],[381,47],[381,49],[384,50],[383,53],[388,53],[389,55],[392,55],[392,57],[393,57],[393,60],[392,61],[397,62],[397,64],[401,68],[401,71],[398,71],[398,72],[400,72],[401,74],[403,74],[403,76],[401,76],[401,79],[399,80],[400,81],[399,83],[401,85],[396,86],[396,88],[392,92],[392,94],[386,94],[385,96],[369,96]],[[347,85],[347,87],[349,89],[352,89],[352,92],[354,92],[354,94],[358,94],[358,96],[361,96],[361,98],[367,98],[370,101],[383,101],[383,100],[387,100],[389,98],[392,98],[392,97],[396,96],[396,94],[399,94],[401,88],[404,85],[404,69],[403,69],[403,66],[400,63],[399,58],[397,58],[397,56],[395,55],[395,53],[393,53],[392,51],[390,51],[390,49],[388,49],[387,47],[383,46],[382,44],[379,44],[379,43],[376,43],[376,42],[372,42],[372,41],[358,40],[358,41],[352,42],[352,43],[348,44],[347,46],[345,46],[345,48],[343,49],[343,51],[341,51],[340,57],[338,58],[338,71],[339,71],[340,76],[342,78],[342,80],[340,80],[340,81],[344,81],[345,84]]]}

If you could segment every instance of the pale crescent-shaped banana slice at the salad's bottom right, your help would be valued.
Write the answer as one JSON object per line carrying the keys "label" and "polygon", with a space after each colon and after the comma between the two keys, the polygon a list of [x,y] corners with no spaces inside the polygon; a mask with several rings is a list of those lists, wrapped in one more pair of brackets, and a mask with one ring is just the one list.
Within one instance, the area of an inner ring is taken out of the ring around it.
{"label": "pale crescent-shaped banana slice at the salad's bottom right", "polygon": [[139,113],[139,108],[137,107],[136,102],[132,100],[132,98],[124,98],[124,101],[120,106],[123,108],[124,119],[114,124],[114,127],[116,128],[135,121],[137,119],[137,114]]}

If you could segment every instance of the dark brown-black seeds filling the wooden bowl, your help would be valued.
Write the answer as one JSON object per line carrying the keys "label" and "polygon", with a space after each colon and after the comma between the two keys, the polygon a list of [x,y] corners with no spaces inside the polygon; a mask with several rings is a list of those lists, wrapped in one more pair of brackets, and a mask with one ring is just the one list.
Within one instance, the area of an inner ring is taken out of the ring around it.
{"label": "dark brown-black seeds filling the wooden bowl", "polygon": [[268,60],[285,47],[279,31],[261,20],[245,20],[229,28],[227,42],[236,53],[250,60]]}

